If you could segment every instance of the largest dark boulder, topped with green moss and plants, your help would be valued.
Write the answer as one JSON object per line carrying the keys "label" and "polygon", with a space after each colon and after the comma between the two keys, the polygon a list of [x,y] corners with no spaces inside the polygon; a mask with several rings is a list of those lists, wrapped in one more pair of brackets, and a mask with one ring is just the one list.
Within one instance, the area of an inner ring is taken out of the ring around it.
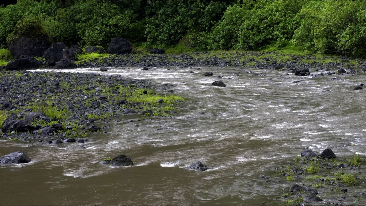
{"label": "largest dark boulder, topped with green moss and plants", "polygon": [[51,46],[51,38],[39,19],[28,16],[15,25],[15,29],[6,39],[10,54],[14,58],[41,57]]}

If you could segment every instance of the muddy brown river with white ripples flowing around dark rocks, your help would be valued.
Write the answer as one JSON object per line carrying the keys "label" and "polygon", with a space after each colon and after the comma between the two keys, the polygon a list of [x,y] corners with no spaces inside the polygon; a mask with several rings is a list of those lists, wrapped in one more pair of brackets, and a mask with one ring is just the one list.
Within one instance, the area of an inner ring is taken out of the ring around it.
{"label": "muddy brown river with white ripples flowing around dark rocks", "polygon": [[[64,71],[173,84],[170,93],[186,102],[174,117],[127,123],[141,117],[126,115],[108,122],[108,133],[92,134],[83,144],[1,139],[0,155],[23,151],[32,159],[0,165],[1,205],[279,205],[296,180],[276,179],[274,169],[304,148],[332,148],[337,156],[366,153],[365,94],[353,90],[366,83],[361,73],[331,80],[336,75],[299,77],[250,68]],[[217,76],[226,87],[211,87]],[[120,154],[135,165],[98,163]],[[213,169],[186,169],[195,161]],[[365,192],[362,185],[354,190]],[[318,196],[323,203],[337,199],[325,192]]]}

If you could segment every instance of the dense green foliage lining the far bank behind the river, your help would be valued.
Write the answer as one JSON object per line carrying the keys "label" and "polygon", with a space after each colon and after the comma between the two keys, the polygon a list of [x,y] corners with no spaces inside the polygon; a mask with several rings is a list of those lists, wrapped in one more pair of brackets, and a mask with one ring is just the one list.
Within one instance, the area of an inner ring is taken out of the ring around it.
{"label": "dense green foliage lining the far bank behind the river", "polygon": [[366,54],[365,1],[18,0],[0,6],[0,48],[26,16],[53,41],[107,47],[122,37],[146,47],[197,50],[295,45],[309,52]]}

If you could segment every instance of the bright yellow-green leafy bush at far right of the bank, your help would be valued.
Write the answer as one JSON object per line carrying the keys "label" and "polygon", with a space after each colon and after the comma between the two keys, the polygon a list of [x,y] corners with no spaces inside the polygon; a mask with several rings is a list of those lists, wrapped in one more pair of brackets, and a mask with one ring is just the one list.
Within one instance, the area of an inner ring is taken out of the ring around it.
{"label": "bright yellow-green leafy bush at far right of the bank", "polygon": [[292,44],[310,52],[365,55],[365,1],[310,1],[296,18],[301,23]]}

